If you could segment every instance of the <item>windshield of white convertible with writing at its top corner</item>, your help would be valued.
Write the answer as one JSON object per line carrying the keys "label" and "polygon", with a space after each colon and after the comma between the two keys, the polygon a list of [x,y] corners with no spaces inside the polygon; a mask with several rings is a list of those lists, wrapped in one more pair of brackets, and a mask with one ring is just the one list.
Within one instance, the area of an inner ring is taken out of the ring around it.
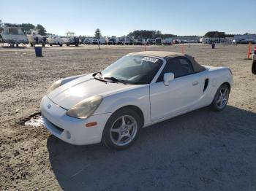
{"label": "windshield of white convertible with writing at its top corner", "polygon": [[162,60],[143,55],[126,55],[101,72],[129,84],[149,84],[162,66]]}

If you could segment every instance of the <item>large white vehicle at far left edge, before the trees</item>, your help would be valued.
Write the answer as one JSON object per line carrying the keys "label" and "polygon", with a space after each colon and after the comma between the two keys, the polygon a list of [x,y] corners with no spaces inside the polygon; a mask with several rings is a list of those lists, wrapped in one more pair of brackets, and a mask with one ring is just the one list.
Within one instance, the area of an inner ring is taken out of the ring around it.
{"label": "large white vehicle at far left edge, before the trees", "polygon": [[21,25],[4,23],[0,27],[0,42],[6,42],[11,44],[11,46],[18,46],[18,44],[28,44],[29,39],[21,30]]}

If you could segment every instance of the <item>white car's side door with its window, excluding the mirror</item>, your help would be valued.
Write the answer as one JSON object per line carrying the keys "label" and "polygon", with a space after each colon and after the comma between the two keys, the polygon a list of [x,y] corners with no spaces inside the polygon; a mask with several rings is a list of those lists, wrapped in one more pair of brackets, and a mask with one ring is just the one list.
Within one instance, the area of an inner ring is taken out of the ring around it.
{"label": "white car's side door with its window, excluding the mirror", "polygon": [[[165,86],[163,76],[167,72],[172,72],[175,79]],[[200,75],[194,73],[192,63],[182,56],[171,58],[157,82],[150,85],[151,120],[186,112],[199,101],[200,95]]]}

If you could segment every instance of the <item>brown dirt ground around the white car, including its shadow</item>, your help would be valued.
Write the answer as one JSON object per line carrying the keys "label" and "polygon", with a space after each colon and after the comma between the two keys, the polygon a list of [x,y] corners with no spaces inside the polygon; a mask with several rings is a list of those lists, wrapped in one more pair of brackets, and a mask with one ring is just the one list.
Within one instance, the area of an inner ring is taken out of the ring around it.
{"label": "brown dirt ground around the white car, including its shadow", "polygon": [[[143,47],[0,47],[0,190],[256,190],[256,75],[246,45],[192,44],[201,64],[228,66],[234,85],[223,112],[208,108],[144,128],[113,151],[73,146],[24,122],[57,79],[100,71]],[[181,52],[181,46],[147,50]]]}

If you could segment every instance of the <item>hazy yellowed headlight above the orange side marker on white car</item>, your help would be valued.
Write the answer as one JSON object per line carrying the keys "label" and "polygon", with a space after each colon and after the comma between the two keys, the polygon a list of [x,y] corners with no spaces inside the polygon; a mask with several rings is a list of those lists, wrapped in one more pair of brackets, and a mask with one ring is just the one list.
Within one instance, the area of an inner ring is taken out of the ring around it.
{"label": "hazy yellowed headlight above the orange side marker on white car", "polygon": [[69,109],[66,114],[70,117],[86,119],[94,113],[99,104],[102,103],[102,99],[103,98],[100,95],[94,95],[90,98],[86,98],[75,106],[72,106],[72,108]]}

